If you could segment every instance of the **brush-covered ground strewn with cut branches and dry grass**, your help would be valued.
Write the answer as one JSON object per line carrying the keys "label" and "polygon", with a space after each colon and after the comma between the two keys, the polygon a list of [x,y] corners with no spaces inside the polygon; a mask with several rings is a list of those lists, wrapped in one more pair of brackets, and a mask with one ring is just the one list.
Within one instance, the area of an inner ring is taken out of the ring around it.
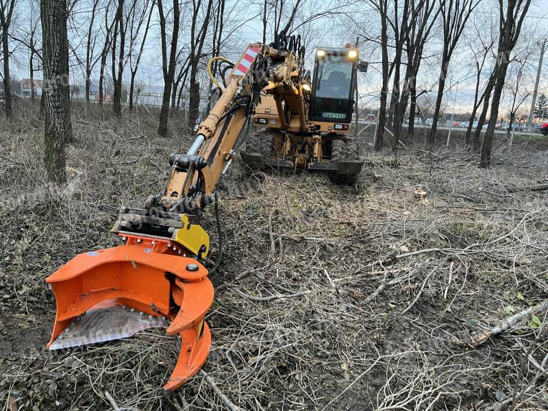
{"label": "brush-covered ground strewn with cut branches and dry grass", "polygon": [[[158,138],[143,115],[73,126],[62,187],[46,182],[38,119],[0,126],[4,410],[225,409],[219,392],[245,410],[548,409],[547,310],[481,334],[546,306],[548,190],[536,188],[548,184],[548,141],[510,149],[499,138],[483,170],[458,145],[395,158],[362,137],[356,187],[237,164],[221,184],[223,262],[207,317],[203,370],[216,389],[198,374],[168,394],[180,343],[162,330],[47,351],[45,278],[119,244],[119,208],[160,192],[169,153],[190,139]],[[213,210],[203,224],[216,247]]]}

